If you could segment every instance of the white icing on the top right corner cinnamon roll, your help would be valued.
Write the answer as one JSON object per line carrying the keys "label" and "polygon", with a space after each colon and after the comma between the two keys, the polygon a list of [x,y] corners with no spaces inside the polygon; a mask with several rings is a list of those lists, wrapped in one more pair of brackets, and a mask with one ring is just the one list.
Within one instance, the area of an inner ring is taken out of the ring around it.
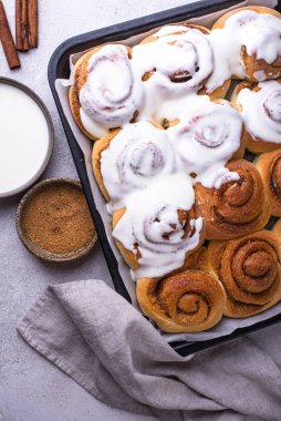
{"label": "white icing on the top right corner cinnamon roll", "polygon": [[[272,14],[241,10],[230,16],[223,28],[215,29],[208,35],[214,50],[215,69],[206,83],[207,91],[214,91],[231,75],[246,78],[240,57],[242,45],[248,55],[256,53],[258,60],[273,63],[281,55],[280,37],[281,21]],[[266,73],[258,74],[257,80],[264,79]]]}

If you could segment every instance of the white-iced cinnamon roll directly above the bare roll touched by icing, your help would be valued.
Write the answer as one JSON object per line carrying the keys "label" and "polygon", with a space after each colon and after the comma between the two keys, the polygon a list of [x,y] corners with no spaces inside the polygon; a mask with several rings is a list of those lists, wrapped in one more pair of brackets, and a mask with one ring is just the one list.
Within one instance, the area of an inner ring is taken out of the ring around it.
{"label": "white-iced cinnamon roll directly above the bare roll touched by icing", "polygon": [[228,101],[187,110],[167,134],[195,183],[218,188],[222,182],[236,179],[225,164],[243,155],[243,121]]}

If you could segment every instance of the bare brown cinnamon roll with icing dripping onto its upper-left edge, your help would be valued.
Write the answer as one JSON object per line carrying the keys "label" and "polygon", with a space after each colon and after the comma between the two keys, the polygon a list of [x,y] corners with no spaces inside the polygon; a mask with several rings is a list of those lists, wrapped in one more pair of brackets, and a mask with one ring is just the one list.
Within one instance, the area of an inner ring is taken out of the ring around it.
{"label": "bare brown cinnamon roll with icing dripping onto its upper-left edge", "polygon": [[207,239],[230,239],[257,232],[266,226],[271,208],[261,176],[248,161],[227,164],[236,181],[218,189],[198,184],[196,194],[202,204]]}

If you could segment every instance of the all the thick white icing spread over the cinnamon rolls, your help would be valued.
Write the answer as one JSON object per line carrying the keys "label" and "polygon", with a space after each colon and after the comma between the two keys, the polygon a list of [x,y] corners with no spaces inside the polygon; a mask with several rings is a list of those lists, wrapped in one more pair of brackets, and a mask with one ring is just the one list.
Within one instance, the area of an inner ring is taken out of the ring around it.
{"label": "all the thick white icing spread over the cinnamon rolls", "polygon": [[[214,104],[209,96],[197,95],[198,90],[205,85],[212,92],[232,75],[243,79],[242,45],[249,55],[272,63],[281,55],[280,35],[280,19],[246,10],[210,34],[183,25],[162,28],[154,42],[133,48],[131,60],[125,47],[116,44],[90,59],[80,94],[81,119],[97,137],[111,127],[123,127],[102,153],[101,171],[112,199],[108,210],[126,208],[113,236],[142,256],[134,278],[177,269],[186,253],[198,246],[202,218],[189,220],[192,229],[186,235],[185,222],[178,217],[179,209],[194,206],[194,184],[219,188],[239,179],[225,165],[240,147],[242,116],[227,102]],[[143,81],[147,72],[152,74]],[[260,70],[253,76],[262,81],[267,74]],[[243,91],[239,94],[242,115],[252,130],[249,122],[260,101],[252,106],[252,93]],[[267,99],[266,105],[272,116],[270,129],[266,129],[264,120],[270,119],[264,110],[262,119],[256,110],[253,125],[277,138],[279,94]],[[136,111],[137,123],[127,124]],[[164,119],[178,119],[179,124],[162,131],[147,122]],[[278,133],[280,138],[280,127]]]}

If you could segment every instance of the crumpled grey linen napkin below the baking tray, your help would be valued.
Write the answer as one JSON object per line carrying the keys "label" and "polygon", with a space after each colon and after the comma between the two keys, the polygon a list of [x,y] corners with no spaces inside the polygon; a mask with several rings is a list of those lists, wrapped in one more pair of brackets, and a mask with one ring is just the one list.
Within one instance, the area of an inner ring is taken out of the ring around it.
{"label": "crumpled grey linen napkin below the baking tray", "polygon": [[281,335],[270,329],[270,353],[249,336],[184,358],[97,279],[49,287],[18,325],[98,400],[169,421],[280,420]]}

